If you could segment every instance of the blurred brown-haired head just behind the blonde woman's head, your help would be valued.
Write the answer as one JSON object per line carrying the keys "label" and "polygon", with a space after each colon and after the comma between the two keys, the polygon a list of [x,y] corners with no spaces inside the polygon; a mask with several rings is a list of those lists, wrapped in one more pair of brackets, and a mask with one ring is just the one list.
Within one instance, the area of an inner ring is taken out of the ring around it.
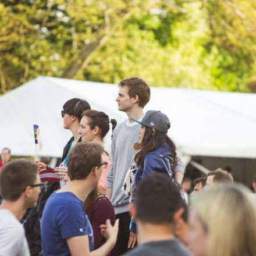
{"label": "blurred brown-haired head just behind the blonde woman's head", "polygon": [[222,186],[226,183],[234,183],[233,176],[226,170],[218,168],[208,173],[204,189],[212,186]]}

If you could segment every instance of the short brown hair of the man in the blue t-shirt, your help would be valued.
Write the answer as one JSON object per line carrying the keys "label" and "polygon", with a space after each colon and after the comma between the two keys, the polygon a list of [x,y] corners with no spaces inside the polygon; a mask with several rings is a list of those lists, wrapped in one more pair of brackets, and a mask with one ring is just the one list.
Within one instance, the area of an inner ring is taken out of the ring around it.
{"label": "short brown hair of the man in the blue t-shirt", "polygon": [[104,149],[93,142],[77,143],[69,152],[67,175],[70,180],[86,179],[91,170],[101,163]]}

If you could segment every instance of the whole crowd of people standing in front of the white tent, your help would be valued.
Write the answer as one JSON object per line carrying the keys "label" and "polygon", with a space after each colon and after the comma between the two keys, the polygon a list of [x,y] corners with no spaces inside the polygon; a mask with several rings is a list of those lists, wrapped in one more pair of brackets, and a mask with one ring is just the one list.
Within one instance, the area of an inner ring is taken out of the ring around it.
{"label": "whole crowd of people standing in front of the white tent", "polygon": [[149,101],[138,77],[119,83],[127,120],[118,125],[84,99],[67,101],[61,116],[72,138],[56,167],[10,161],[2,150],[0,255],[254,255],[254,194],[216,169],[189,195],[169,118],[144,113]]}

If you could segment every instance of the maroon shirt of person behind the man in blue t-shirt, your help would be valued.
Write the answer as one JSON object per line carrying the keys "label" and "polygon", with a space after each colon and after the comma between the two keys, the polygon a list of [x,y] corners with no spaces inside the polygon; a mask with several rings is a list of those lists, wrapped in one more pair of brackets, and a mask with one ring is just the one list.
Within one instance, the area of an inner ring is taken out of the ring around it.
{"label": "maroon shirt of person behind the man in blue t-shirt", "polygon": [[87,216],[93,227],[94,250],[96,250],[106,242],[105,237],[101,234],[99,225],[105,224],[107,219],[110,219],[112,225],[115,223],[115,212],[111,201],[106,197],[99,197],[87,211]]}

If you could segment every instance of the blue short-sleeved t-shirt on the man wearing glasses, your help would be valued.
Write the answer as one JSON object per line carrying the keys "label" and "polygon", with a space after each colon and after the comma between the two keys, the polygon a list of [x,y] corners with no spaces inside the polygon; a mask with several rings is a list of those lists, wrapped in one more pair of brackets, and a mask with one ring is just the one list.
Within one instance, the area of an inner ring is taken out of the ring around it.
{"label": "blue short-sleeved t-shirt on the man wearing glasses", "polygon": [[70,192],[52,193],[47,200],[41,223],[42,254],[71,255],[66,239],[88,236],[90,251],[94,250],[93,229],[84,212],[84,202]]}

